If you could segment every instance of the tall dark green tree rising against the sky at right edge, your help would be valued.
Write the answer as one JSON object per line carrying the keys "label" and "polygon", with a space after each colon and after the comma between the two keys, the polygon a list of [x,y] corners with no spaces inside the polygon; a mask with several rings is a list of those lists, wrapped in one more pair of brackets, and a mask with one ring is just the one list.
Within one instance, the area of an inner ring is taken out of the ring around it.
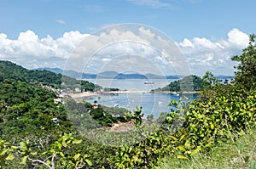
{"label": "tall dark green tree rising against the sky at right edge", "polygon": [[252,84],[256,82],[256,35],[250,35],[250,42],[247,48],[243,49],[243,53],[238,56],[235,55],[231,59],[239,62],[237,69],[235,82],[246,87],[252,87]]}

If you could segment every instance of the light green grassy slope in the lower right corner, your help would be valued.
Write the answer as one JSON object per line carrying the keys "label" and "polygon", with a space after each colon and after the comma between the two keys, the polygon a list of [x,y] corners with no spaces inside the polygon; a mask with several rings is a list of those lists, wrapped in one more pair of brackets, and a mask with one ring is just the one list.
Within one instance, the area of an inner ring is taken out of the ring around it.
{"label": "light green grassy slope in the lower right corner", "polygon": [[229,140],[219,143],[211,152],[198,153],[189,160],[169,156],[159,162],[157,169],[256,169],[256,129],[237,137],[231,134]]}

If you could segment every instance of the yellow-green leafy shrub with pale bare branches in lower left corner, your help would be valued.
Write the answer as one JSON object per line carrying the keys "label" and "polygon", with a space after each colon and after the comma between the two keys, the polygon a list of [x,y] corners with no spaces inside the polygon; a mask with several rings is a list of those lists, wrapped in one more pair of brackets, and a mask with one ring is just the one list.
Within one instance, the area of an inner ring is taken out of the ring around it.
{"label": "yellow-green leafy shrub with pale bare branches in lower left corner", "polygon": [[[38,154],[32,150],[29,140],[22,141],[19,146],[11,146],[8,142],[0,140],[0,156],[5,161],[13,161],[15,155],[20,157],[20,164],[32,166],[45,166],[49,169],[55,168],[81,168],[84,166],[92,166],[89,155],[76,151],[75,154],[70,153],[67,149],[73,144],[81,144],[82,140],[73,138],[72,134],[64,133],[57,141],[55,141],[44,152]],[[38,158],[42,156],[44,160]],[[0,161],[1,165],[7,164]]]}

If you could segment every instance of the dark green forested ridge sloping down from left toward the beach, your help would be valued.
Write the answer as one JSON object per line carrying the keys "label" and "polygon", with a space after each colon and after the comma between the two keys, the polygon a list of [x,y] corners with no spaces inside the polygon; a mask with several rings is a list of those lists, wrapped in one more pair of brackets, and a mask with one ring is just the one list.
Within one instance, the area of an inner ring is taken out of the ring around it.
{"label": "dark green forested ridge sloping down from left toward the beach", "polygon": [[[63,78],[64,77],[64,78]],[[61,88],[61,82],[65,79],[68,88],[82,87],[85,91],[93,91],[99,87],[91,82],[78,81],[73,77],[62,76],[49,70],[27,70],[20,65],[16,65],[10,61],[0,60],[0,81],[9,79],[11,81],[43,83],[44,85]],[[72,84],[72,85],[71,85]],[[62,86],[63,87],[63,86]]]}

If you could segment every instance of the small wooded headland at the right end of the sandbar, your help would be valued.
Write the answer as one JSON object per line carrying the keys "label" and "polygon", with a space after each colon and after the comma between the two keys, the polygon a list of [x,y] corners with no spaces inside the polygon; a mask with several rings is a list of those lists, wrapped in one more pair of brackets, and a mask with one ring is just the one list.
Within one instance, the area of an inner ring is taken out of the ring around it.
{"label": "small wooded headland at the right end of the sandbar", "polygon": [[202,80],[199,76],[190,75],[185,76],[181,80],[171,82],[166,87],[157,88],[152,90],[152,92],[190,92],[190,91],[201,91],[202,90]]}

